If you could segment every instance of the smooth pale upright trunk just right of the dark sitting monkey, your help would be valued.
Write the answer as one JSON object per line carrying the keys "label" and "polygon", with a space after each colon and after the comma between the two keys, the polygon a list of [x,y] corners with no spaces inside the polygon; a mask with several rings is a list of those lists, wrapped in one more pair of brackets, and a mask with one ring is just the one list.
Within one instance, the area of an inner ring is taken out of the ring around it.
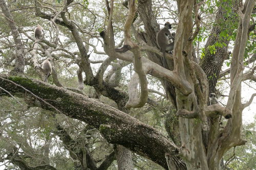
{"label": "smooth pale upright trunk just right of the dark sitting monkey", "polygon": [[[185,52],[187,56],[184,55],[183,50],[188,43],[187,41],[193,28],[192,10],[194,8],[194,1],[177,2],[180,2],[180,22],[178,24],[174,45],[174,71],[177,72],[182,79],[186,79],[191,87],[194,87],[194,81],[191,78],[192,75],[189,74],[189,72],[193,70],[189,70],[183,63],[183,58],[191,58],[193,52],[191,44],[187,47],[187,51]],[[178,110],[186,109],[187,111],[195,111],[198,109],[194,92],[185,96],[180,90],[176,89],[176,95]],[[179,152],[186,162],[187,169],[208,169],[202,135],[200,133],[201,128],[199,119],[179,118],[181,138],[181,149]]]}

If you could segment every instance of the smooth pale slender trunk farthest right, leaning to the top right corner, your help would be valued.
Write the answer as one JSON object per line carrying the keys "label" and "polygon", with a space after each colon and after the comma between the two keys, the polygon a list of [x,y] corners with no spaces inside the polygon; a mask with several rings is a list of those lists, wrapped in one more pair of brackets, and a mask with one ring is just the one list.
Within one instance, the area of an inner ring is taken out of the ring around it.
{"label": "smooth pale slender trunk farthest right, leaning to the top right corner", "polygon": [[247,40],[248,23],[251,15],[252,8],[255,1],[246,1],[244,10],[240,14],[240,22],[238,26],[238,32],[236,41],[233,48],[233,57],[230,67],[230,81],[231,88],[229,92],[228,104],[226,111],[230,110],[232,118],[228,120],[228,123],[223,131],[219,130],[218,119],[212,119],[211,131],[208,138],[208,152],[207,161],[209,169],[220,169],[220,163],[223,155],[230,148],[237,145],[245,144],[245,140],[242,139],[242,103],[241,103],[241,81],[243,78],[243,58],[245,45]]}

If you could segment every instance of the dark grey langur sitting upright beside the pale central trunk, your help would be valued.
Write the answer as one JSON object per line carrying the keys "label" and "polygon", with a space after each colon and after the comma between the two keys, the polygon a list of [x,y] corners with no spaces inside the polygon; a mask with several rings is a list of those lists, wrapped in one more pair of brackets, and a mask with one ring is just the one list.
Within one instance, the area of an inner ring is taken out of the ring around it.
{"label": "dark grey langur sitting upright beside the pale central trunk", "polygon": [[[174,50],[174,39],[175,39],[175,33],[170,33],[169,29],[172,28],[172,25],[170,22],[166,22],[164,24],[164,28],[162,28],[157,33],[157,45],[160,47],[160,49],[163,51],[163,57],[165,58],[165,52]],[[173,42],[169,43],[169,38],[173,40]]]}

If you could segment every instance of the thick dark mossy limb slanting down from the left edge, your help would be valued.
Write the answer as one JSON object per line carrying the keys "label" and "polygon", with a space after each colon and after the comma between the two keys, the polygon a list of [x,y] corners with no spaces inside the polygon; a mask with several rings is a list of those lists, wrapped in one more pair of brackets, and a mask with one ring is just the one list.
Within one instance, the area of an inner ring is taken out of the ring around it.
{"label": "thick dark mossy limb slanting down from the left edge", "polygon": [[[7,79],[4,75],[0,77]],[[25,98],[25,94],[33,96],[23,88],[5,79],[0,81],[0,86],[9,92],[21,98]],[[19,77],[8,77],[8,79],[26,87],[39,98],[46,100],[49,104],[59,109],[61,113],[99,128],[102,136],[110,143],[124,145],[124,147],[152,159],[165,168],[167,168],[167,164],[162,151],[169,153],[172,157],[177,156],[175,153],[177,146],[174,143],[170,142],[155,129],[139,122],[126,113],[87,98],[82,94],[51,86],[37,80]],[[4,93],[4,91],[0,91],[0,95]],[[45,102],[41,102],[41,107],[55,111]]]}

